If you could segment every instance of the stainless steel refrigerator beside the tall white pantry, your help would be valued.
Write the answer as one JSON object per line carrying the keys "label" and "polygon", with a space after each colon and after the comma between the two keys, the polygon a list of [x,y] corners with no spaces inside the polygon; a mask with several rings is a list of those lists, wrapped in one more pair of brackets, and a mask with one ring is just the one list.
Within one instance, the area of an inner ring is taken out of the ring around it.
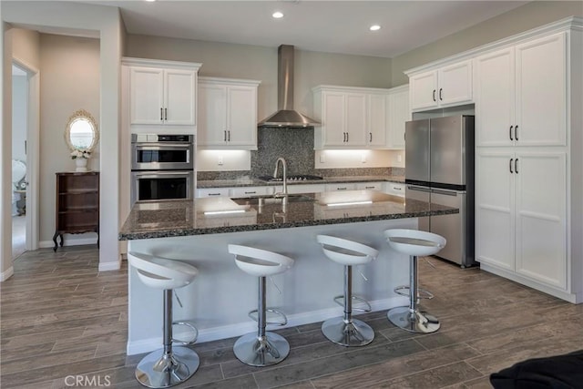
{"label": "stainless steel refrigerator beside the tall white pantry", "polygon": [[460,115],[405,125],[405,198],[459,208],[419,219],[419,230],[447,240],[436,255],[462,267],[474,260],[474,117]]}

